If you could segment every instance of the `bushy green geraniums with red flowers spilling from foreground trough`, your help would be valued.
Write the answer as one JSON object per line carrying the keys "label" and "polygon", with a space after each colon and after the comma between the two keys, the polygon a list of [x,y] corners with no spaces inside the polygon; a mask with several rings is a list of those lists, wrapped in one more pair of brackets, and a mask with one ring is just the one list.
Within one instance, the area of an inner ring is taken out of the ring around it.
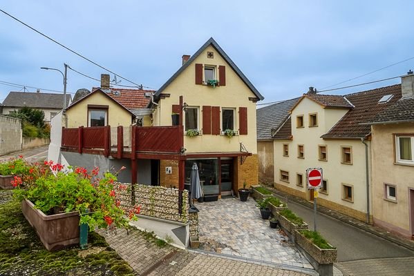
{"label": "bushy green geraniums with red flowers spilling from foreground trough", "polygon": [[[88,225],[89,230],[94,230],[95,227],[109,227],[113,230],[115,227],[126,226],[128,224],[128,220],[124,218],[126,211],[129,219],[135,219],[135,213],[140,212],[140,207],[134,206],[129,210],[123,210],[120,201],[115,198],[117,193],[113,186],[115,175],[105,172],[99,178],[98,174],[98,168],[91,173],[84,168],[71,167],[64,171],[64,166],[61,164],[45,161],[44,164],[32,166],[30,175],[23,179],[17,177],[14,183],[17,186],[15,197],[30,201],[33,208],[50,216],[46,220],[58,214],[75,212],[79,215],[79,224]],[[126,186],[124,188],[126,189]],[[27,214],[25,217],[28,219]],[[30,224],[35,228],[44,227],[35,226],[33,221]],[[57,230],[55,229],[56,233]],[[54,230],[50,233],[55,234]],[[39,229],[37,234],[40,234]]]}

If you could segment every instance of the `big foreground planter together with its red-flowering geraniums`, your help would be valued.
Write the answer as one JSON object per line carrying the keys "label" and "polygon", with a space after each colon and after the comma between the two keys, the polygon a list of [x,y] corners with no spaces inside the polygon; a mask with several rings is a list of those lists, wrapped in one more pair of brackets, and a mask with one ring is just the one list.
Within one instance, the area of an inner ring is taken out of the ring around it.
{"label": "big foreground planter together with its red-flowering geraniums", "polygon": [[[125,210],[115,198],[115,175],[95,168],[64,168],[53,161],[35,164],[30,173],[15,177],[15,197],[23,215],[48,250],[79,243],[79,225],[89,230],[127,226]],[[100,177],[98,177],[100,175]],[[129,218],[135,219],[134,208]],[[139,210],[138,210],[139,213]]]}

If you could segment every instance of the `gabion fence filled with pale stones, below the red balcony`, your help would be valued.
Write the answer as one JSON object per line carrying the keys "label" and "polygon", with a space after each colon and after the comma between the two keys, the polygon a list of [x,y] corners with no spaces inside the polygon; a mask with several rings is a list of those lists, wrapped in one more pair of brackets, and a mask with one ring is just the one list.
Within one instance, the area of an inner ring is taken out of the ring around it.
{"label": "gabion fence filled with pale stones, below the red balcony", "polygon": [[115,194],[122,207],[141,206],[140,214],[187,223],[188,191],[160,186],[115,184]]}

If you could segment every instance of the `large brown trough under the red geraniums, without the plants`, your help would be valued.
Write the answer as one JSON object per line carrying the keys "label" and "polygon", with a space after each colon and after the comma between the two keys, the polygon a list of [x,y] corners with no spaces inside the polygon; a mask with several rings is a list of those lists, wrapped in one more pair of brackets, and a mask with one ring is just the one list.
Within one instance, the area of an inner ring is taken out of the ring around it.
{"label": "large brown trough under the red geraniums, without the plants", "polygon": [[78,212],[45,215],[27,199],[21,202],[21,210],[47,250],[79,244]]}

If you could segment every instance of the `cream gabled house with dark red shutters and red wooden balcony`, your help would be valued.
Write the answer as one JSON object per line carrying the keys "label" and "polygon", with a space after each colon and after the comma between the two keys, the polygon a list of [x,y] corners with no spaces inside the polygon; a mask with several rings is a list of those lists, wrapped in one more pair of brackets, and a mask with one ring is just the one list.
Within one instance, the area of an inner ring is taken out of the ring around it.
{"label": "cream gabled house with dark red shutters and red wooden balcony", "polygon": [[[205,194],[214,196],[237,193],[244,182],[258,182],[256,102],[263,96],[214,39],[192,57],[182,56],[178,71],[158,91],[147,93],[147,109],[128,106],[130,100],[122,98],[127,90],[119,90],[120,95],[117,89],[107,90],[94,90],[68,108],[69,128],[62,137],[68,164],[126,166],[131,177],[124,181],[182,189],[197,163]],[[148,110],[151,114],[143,117],[143,127],[132,126],[129,132],[117,128],[117,135],[111,135],[116,148],[107,148],[109,130],[86,128],[93,121],[109,124],[111,132],[116,126],[129,128],[127,110],[137,116]],[[171,115],[178,115],[177,126]],[[79,126],[85,128],[74,129]]]}

